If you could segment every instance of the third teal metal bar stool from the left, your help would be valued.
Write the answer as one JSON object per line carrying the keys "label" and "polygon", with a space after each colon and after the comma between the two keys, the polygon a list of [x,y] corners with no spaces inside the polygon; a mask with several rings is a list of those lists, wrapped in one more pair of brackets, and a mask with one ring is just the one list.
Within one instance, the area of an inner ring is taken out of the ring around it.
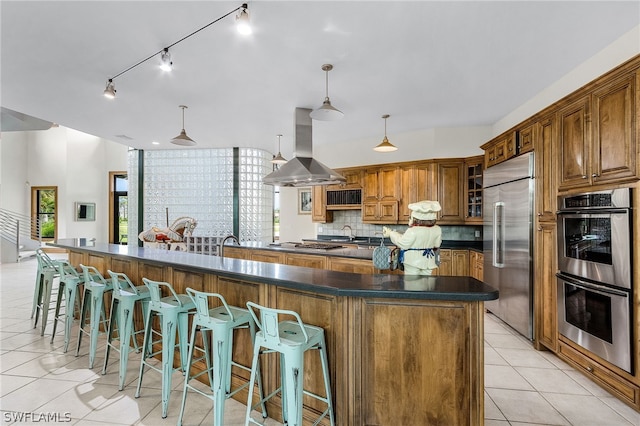
{"label": "third teal metal bar stool from the left", "polygon": [[[78,346],[76,356],[80,354],[82,335],[89,335],[89,368],[93,368],[98,348],[98,334],[100,334],[100,323],[107,330],[107,318],[104,308],[104,296],[113,290],[111,281],[106,280],[100,271],[93,266],[80,264],[84,277],[84,291],[82,296],[82,309],[80,310],[80,327],[78,328]],[[89,312],[89,330],[87,325],[87,312]]]}

